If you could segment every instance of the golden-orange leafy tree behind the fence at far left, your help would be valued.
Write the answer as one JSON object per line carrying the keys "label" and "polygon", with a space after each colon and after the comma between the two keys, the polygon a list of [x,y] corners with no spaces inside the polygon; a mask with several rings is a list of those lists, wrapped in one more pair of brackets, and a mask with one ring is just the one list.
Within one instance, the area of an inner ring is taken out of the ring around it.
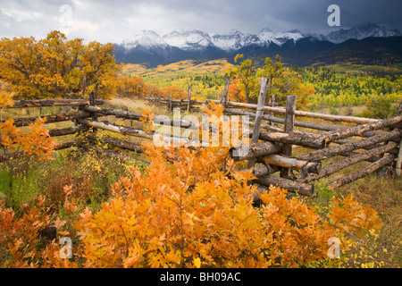
{"label": "golden-orange leafy tree behind the fence at far left", "polygon": [[113,44],[68,39],[58,30],[46,38],[1,38],[0,78],[16,98],[115,96],[117,74]]}

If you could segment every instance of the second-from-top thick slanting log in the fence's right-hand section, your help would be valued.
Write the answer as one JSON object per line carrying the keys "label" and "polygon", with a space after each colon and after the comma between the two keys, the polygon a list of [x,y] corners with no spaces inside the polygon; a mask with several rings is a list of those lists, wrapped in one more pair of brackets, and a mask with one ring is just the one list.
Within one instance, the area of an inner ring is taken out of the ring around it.
{"label": "second-from-top thick slanting log in the fence's right-hand section", "polygon": [[402,136],[402,130],[392,130],[388,133],[373,136],[367,139],[361,139],[358,141],[353,141],[348,144],[343,144],[339,146],[326,147],[322,150],[316,150],[307,154],[296,156],[297,159],[318,162],[324,159],[331,158],[333,156],[339,156],[343,153],[348,153],[356,149],[370,147],[374,144],[389,141],[391,139],[398,139]]}

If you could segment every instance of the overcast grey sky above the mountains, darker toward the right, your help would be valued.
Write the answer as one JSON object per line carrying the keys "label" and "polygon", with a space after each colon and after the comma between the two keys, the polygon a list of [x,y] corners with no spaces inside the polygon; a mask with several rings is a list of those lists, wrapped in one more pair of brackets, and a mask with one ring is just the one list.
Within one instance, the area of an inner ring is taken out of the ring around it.
{"label": "overcast grey sky above the mountains, darker toward the right", "polygon": [[[339,5],[339,27],[327,23],[330,4]],[[144,29],[161,36],[172,29],[256,34],[265,27],[327,34],[367,22],[402,30],[401,11],[399,0],[0,0],[0,38],[44,38],[54,29],[102,43]]]}

